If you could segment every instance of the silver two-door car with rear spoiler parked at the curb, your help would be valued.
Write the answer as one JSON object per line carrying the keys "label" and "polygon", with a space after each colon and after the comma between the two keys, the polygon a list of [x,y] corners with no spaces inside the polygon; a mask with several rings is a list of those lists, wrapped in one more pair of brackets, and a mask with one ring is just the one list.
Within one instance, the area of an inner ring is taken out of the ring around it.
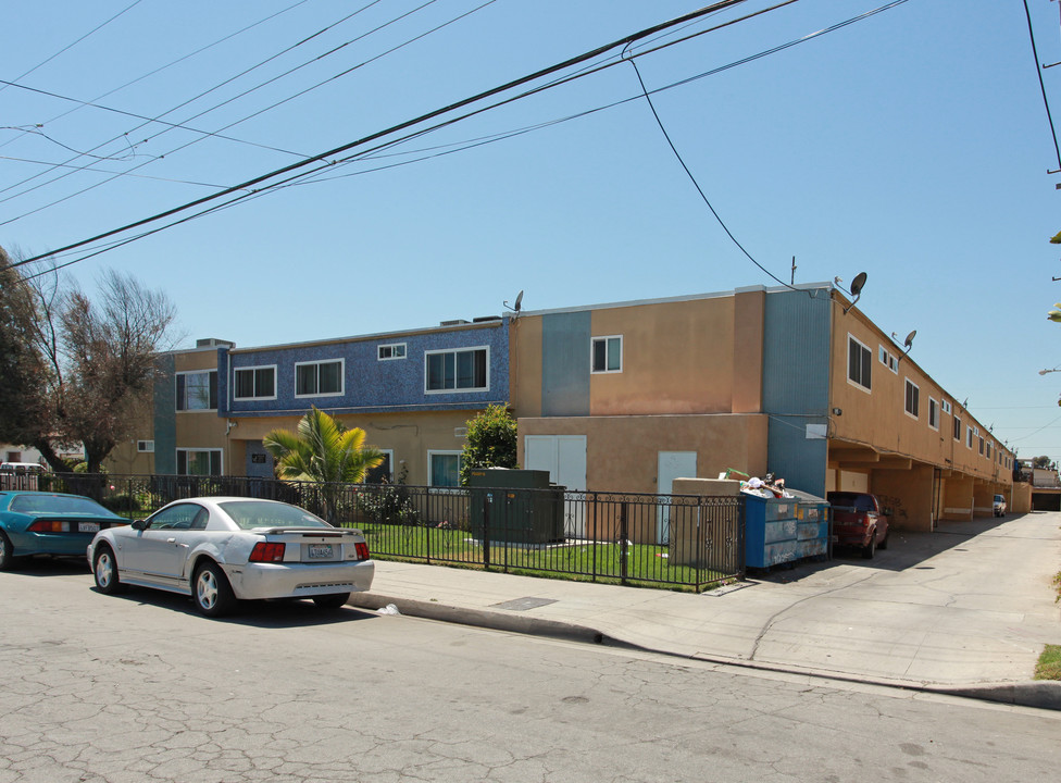
{"label": "silver two-door car with rear spoiler parked at the curb", "polygon": [[190,595],[207,617],[238,600],[312,598],[327,609],[372,586],[361,531],[333,527],[275,500],[175,500],[146,520],[100,531],[88,561],[101,593],[125,585]]}

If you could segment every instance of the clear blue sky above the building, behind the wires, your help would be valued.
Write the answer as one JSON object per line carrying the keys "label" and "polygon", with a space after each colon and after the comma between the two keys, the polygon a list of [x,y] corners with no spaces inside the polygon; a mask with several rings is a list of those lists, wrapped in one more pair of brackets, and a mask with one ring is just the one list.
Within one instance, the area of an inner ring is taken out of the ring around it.
{"label": "clear blue sky above the building, behind the wires", "polygon": [[[1061,60],[1058,3],[1028,2],[1039,61]],[[702,4],[9,3],[0,78],[147,117],[187,101],[164,120],[195,129],[0,85],[0,245],[34,254],[88,238]],[[748,0],[683,33],[771,4]],[[646,55],[640,72],[657,89],[884,4],[799,0]],[[1061,66],[1044,77],[1061,112]],[[392,165],[639,89],[621,63],[323,173],[351,176],[249,199],[68,273],[91,287],[113,268],[164,290],[182,346],[416,328],[498,314],[521,289],[524,307],[539,310],[773,285],[700,200],[644,99]],[[1061,373],[1037,372],[1061,364],[1061,325],[1046,320],[1061,301],[1051,281],[1061,247],[1048,244],[1061,231],[1061,174],[1048,174],[1059,164],[1021,0],[909,0],[654,101],[751,256],[786,281],[795,256],[801,283],[866,272],[870,318],[900,336],[916,330],[912,357],[1020,456],[1061,459]],[[124,175],[104,183],[114,173]]]}

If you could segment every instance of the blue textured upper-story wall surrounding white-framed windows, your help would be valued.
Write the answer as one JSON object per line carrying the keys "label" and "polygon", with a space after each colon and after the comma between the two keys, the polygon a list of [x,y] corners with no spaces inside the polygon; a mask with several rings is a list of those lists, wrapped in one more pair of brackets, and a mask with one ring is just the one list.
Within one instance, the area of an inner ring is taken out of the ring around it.
{"label": "blue textured upper-story wall surrounding white-framed windows", "polygon": [[[404,359],[378,359],[378,346],[405,344]],[[477,391],[432,393],[425,389],[427,351],[488,348],[488,388]],[[222,361],[224,357],[219,357]],[[509,400],[509,322],[465,330],[439,330],[326,345],[285,346],[228,353],[225,382],[219,386],[223,405],[233,415],[302,413],[311,405],[334,413],[409,410],[464,410]],[[297,362],[342,359],[341,396],[296,397]],[[240,368],[276,365],[276,399],[235,400],[229,391]],[[225,366],[224,363],[221,366]]]}

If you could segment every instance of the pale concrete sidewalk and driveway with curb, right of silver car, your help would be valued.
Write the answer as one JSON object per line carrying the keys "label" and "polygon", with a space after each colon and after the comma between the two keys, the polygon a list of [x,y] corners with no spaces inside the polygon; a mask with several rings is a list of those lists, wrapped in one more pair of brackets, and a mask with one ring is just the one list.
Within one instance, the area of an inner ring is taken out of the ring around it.
{"label": "pale concrete sidewalk and driveway with curb, right of silver car", "polygon": [[700,595],[377,561],[351,604],[727,664],[1061,709],[1031,682],[1061,644],[1061,514],[895,532],[887,551]]}

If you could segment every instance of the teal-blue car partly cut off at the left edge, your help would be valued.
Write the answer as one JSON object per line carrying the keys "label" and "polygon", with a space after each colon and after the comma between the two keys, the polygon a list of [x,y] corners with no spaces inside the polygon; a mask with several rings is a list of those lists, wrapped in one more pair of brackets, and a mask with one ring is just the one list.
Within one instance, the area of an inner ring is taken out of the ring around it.
{"label": "teal-blue car partly cut off at the left edge", "polygon": [[85,557],[101,530],[128,523],[80,495],[0,492],[0,571],[29,555]]}

